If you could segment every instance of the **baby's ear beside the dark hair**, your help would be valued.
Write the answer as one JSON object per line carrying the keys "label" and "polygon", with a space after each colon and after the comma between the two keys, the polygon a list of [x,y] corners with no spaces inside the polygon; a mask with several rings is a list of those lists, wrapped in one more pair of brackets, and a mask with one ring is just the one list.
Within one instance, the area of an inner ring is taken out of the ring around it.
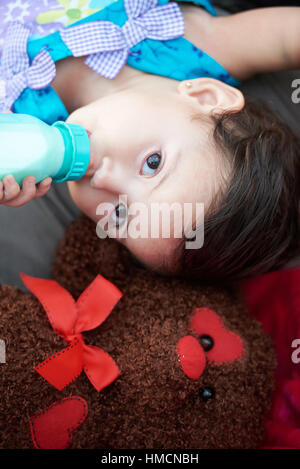
{"label": "baby's ear beside the dark hair", "polygon": [[190,100],[193,107],[204,114],[240,111],[245,105],[240,90],[214,78],[184,80],[177,89],[179,94]]}

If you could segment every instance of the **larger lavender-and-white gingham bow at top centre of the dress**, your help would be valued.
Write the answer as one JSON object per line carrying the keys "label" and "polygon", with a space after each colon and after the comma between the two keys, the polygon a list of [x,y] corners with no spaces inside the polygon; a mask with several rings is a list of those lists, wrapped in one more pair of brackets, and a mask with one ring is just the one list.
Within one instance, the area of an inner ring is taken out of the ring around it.
{"label": "larger lavender-and-white gingham bow at top centre of the dress", "polygon": [[75,57],[87,55],[86,65],[106,78],[115,78],[125,65],[129,49],[149,38],[158,41],[184,34],[184,20],[175,3],[125,0],[128,20],[119,27],[110,21],[92,21],[60,31]]}

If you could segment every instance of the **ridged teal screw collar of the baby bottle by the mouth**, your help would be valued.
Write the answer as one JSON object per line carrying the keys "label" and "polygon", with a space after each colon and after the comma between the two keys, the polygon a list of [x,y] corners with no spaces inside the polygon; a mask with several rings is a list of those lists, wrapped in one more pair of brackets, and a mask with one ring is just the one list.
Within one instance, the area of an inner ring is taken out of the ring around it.
{"label": "ridged teal screw collar of the baby bottle by the mouth", "polygon": [[90,140],[85,129],[78,124],[57,121],[65,143],[65,158],[59,172],[53,177],[54,182],[75,181],[84,176],[90,162]]}

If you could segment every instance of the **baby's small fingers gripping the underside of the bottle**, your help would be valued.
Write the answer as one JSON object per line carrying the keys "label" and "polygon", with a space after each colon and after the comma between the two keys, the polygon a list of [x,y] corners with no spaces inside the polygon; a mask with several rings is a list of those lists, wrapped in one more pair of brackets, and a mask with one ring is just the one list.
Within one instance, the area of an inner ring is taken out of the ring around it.
{"label": "baby's small fingers gripping the underside of the bottle", "polygon": [[5,176],[0,181],[0,205],[21,207],[30,200],[45,195],[51,187],[51,182],[52,179],[47,177],[36,185],[35,177],[27,176],[23,179],[22,188],[20,188],[13,176]]}

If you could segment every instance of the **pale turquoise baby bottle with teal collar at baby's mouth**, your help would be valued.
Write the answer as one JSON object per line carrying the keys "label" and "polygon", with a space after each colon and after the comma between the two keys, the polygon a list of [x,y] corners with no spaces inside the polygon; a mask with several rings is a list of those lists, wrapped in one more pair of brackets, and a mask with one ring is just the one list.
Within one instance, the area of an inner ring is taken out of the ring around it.
{"label": "pale turquoise baby bottle with teal collar at baby's mouth", "polygon": [[54,182],[80,179],[90,160],[87,132],[77,124],[51,126],[27,114],[0,114],[0,180],[12,174],[21,185],[50,176]]}

